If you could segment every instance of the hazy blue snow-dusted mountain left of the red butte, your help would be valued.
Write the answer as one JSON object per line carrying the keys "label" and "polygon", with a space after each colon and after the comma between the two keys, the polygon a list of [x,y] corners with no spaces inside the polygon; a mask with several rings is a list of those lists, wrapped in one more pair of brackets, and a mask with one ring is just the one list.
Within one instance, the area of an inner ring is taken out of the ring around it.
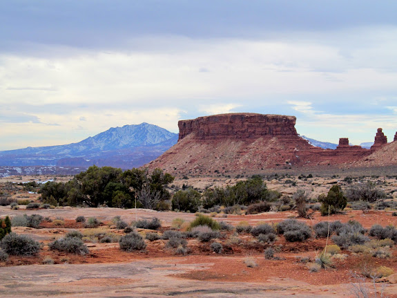
{"label": "hazy blue snow-dusted mountain left of the red butte", "polygon": [[140,167],[176,144],[177,133],[142,123],[110,128],[68,145],[0,151],[0,166]]}

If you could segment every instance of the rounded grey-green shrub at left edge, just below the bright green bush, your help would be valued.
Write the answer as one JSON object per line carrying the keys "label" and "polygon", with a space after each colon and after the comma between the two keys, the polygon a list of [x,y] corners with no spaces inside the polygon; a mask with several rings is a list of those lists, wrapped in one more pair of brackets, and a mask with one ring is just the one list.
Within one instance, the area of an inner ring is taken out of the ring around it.
{"label": "rounded grey-green shrub at left edge, just below the bright green bush", "polygon": [[0,247],[8,254],[32,256],[39,252],[41,244],[29,236],[11,232],[4,236],[3,240],[0,242]]}

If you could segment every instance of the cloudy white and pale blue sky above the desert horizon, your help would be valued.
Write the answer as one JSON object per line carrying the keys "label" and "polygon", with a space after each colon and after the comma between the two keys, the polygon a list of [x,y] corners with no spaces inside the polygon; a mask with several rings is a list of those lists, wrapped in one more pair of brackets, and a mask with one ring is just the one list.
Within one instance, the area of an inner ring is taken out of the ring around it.
{"label": "cloudy white and pale blue sky above the desert horizon", "polygon": [[0,1],[0,151],[217,113],[397,131],[397,1]]}

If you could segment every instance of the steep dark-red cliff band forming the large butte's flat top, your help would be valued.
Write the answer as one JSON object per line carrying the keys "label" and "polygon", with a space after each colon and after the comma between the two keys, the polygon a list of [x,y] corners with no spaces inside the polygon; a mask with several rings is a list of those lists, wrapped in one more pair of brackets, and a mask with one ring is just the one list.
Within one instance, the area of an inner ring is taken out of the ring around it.
{"label": "steep dark-red cliff band forming the large butte's flat top", "polygon": [[298,136],[296,118],[286,115],[264,115],[257,113],[229,113],[180,120],[179,140],[194,133],[196,140],[223,140],[225,138],[255,139],[277,136]]}

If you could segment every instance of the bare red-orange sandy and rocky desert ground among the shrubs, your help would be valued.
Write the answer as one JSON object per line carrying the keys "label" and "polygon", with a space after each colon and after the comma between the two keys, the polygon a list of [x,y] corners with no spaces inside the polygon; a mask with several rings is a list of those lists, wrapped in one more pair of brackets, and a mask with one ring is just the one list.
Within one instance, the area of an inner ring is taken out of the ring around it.
{"label": "bare red-orange sandy and rocky desert ground among the shrubs", "polygon": [[[35,177],[37,179],[37,177]],[[50,177],[41,177],[45,180]],[[20,178],[14,178],[20,180]],[[22,179],[22,178],[21,178]],[[23,177],[23,180],[29,179]],[[283,194],[293,194],[298,187],[310,190],[313,196],[327,192],[330,185],[343,181],[342,177],[313,177],[296,180],[296,185],[286,185],[283,179],[267,182],[269,189],[278,189]],[[394,177],[369,178],[382,180],[385,190],[396,199],[397,179]],[[1,182],[12,180],[3,178]],[[231,183],[230,178],[191,178],[175,181],[175,185],[188,183],[202,187]],[[37,194],[19,192],[17,198],[36,199]],[[316,211],[309,219],[297,218],[309,226],[320,221],[358,221],[369,230],[374,224],[397,225],[397,216],[393,210],[374,210],[363,212],[347,208],[342,214],[321,216]],[[57,207],[55,209],[20,209],[0,206],[0,216],[22,214],[40,214],[52,221],[43,221],[39,228],[12,227],[12,232],[27,234],[43,243],[43,249],[34,257],[10,256],[6,263],[0,263],[1,297],[356,297],[351,290],[354,272],[360,270],[362,256],[349,250],[342,250],[342,257],[333,259],[333,268],[311,272],[308,263],[302,260],[314,260],[326,245],[327,239],[314,238],[303,242],[287,242],[283,236],[273,243],[275,258],[265,259],[265,243],[255,240],[249,233],[235,234],[223,232],[218,240],[224,246],[221,254],[210,250],[209,242],[188,239],[186,255],[177,255],[175,250],[166,248],[166,241],[145,240],[146,249],[137,252],[125,252],[119,249],[119,243],[101,243],[85,241],[89,254],[84,256],[57,252],[48,248],[48,243],[64,236],[70,230],[86,229],[82,223],[76,223],[77,216],[95,216],[101,225],[91,231],[114,235],[123,235],[123,230],[115,229],[112,218],[120,216],[130,223],[137,219],[159,218],[162,234],[173,225],[175,218],[186,223],[193,221],[196,214],[182,212],[155,212],[150,209],[117,208],[79,208]],[[210,215],[210,214],[207,214]],[[287,218],[296,218],[294,210],[285,212],[264,212],[261,214],[211,214],[213,219],[233,225],[259,223],[278,223]],[[63,223],[55,224],[56,218]],[[182,227],[183,230],[183,227]],[[137,229],[141,234],[152,232]],[[331,243],[331,240],[329,240]],[[50,257],[55,263],[43,265],[43,259]],[[251,259],[257,266],[246,266]],[[387,259],[373,258],[376,266],[387,266],[397,272],[397,250],[391,249]],[[373,289],[371,279],[365,279],[365,286]],[[378,279],[378,290],[384,287],[386,297],[397,297],[397,277]],[[385,296],[384,296],[385,297]]]}

